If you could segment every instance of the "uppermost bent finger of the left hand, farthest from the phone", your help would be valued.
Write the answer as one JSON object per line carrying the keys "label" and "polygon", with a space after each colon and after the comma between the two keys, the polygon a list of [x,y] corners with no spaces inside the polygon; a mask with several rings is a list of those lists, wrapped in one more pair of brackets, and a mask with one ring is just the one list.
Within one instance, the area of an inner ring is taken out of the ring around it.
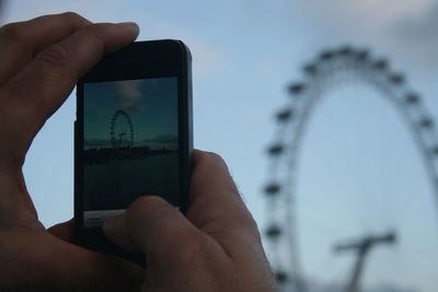
{"label": "uppermost bent finger of the left hand, farthest from the phone", "polygon": [[90,24],[91,22],[84,17],[67,12],[2,26],[0,28],[0,84],[15,75],[42,49]]}

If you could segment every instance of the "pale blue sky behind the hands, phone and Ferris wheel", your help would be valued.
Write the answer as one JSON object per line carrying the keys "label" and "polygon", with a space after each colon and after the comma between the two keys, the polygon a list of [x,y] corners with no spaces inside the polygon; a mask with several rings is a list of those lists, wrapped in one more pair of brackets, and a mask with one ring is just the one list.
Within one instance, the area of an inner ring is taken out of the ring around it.
{"label": "pale blue sky behind the hands, phone and Ferris wheel", "polygon": [[[1,22],[65,11],[94,22],[135,21],[141,40],[188,45],[195,147],[228,162],[263,233],[278,211],[264,192],[273,175],[266,150],[279,135],[275,114],[290,103],[289,85],[308,79],[302,66],[321,51],[350,45],[388,57],[438,117],[435,0],[14,0],[3,3]],[[395,231],[395,244],[368,254],[361,291],[437,291],[438,194],[410,125],[367,82],[347,81],[323,95],[295,167],[293,244],[276,249],[265,237],[268,255],[276,261],[299,247],[299,278],[308,290],[341,292],[358,257],[333,246]],[[26,157],[26,183],[46,226],[73,215],[74,110],[73,92]],[[291,224],[279,220],[283,230]]]}

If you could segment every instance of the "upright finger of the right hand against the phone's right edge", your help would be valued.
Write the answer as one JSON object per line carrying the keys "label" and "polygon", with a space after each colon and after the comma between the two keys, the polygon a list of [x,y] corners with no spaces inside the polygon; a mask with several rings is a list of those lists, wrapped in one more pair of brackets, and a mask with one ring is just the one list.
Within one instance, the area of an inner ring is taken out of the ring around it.
{"label": "upright finger of the right hand against the phone's right edge", "polygon": [[260,253],[262,242],[257,225],[227,164],[215,153],[195,151],[194,165],[187,219],[214,238],[230,258]]}

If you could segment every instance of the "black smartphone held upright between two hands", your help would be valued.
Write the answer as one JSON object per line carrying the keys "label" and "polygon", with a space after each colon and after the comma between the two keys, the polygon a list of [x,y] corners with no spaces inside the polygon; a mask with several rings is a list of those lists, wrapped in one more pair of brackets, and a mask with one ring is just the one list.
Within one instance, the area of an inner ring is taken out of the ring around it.
{"label": "black smartphone held upright between two hands", "polygon": [[81,246],[145,265],[113,245],[103,221],[139,196],[185,212],[192,131],[192,57],[181,40],[132,43],[77,84],[74,226]]}

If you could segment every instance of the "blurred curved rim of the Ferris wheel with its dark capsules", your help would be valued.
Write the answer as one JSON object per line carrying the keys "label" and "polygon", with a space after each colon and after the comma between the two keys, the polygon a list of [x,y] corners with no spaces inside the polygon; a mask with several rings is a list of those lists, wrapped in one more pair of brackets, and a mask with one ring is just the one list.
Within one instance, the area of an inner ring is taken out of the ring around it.
{"label": "blurred curved rim of the Ferris wheel with its dark capsules", "polygon": [[[303,67],[303,80],[288,89],[288,105],[276,113],[277,130],[268,148],[268,179],[264,186],[269,209],[264,240],[272,250],[269,260],[279,287],[297,292],[308,291],[302,269],[306,258],[300,254],[297,231],[297,163],[315,105],[334,87],[360,81],[391,102],[420,152],[438,210],[438,137],[433,117],[420,96],[408,86],[405,75],[392,71],[387,59],[349,46],[321,52]],[[390,233],[382,238],[394,241],[394,234]],[[350,289],[347,291],[355,291]]]}

